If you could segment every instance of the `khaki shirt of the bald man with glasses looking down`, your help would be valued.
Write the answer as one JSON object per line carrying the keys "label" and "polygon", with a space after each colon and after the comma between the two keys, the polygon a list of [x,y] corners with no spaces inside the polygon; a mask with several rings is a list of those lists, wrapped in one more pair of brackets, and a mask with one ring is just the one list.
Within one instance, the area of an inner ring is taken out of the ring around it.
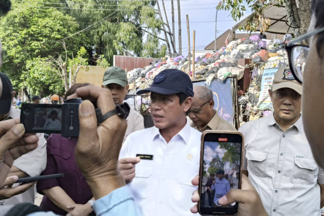
{"label": "khaki shirt of the bald man with glasses looking down", "polygon": [[[216,112],[216,110],[215,110],[215,112]],[[190,126],[197,129],[201,133],[208,129],[217,130],[217,131],[237,131],[237,129],[233,125],[231,125],[226,120],[221,118],[217,112],[215,113],[214,117],[208,122],[208,124],[203,129],[199,130],[198,127],[194,125],[194,123],[191,123]]]}

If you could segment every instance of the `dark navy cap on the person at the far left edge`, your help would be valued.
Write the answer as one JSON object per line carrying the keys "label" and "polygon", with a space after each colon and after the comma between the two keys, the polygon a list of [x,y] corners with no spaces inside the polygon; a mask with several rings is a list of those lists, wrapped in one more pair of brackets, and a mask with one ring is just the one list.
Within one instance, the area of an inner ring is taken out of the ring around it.
{"label": "dark navy cap on the person at the far left edge", "polygon": [[13,87],[6,74],[0,73],[0,79],[2,83],[2,92],[0,92],[0,114],[7,114],[11,107]]}

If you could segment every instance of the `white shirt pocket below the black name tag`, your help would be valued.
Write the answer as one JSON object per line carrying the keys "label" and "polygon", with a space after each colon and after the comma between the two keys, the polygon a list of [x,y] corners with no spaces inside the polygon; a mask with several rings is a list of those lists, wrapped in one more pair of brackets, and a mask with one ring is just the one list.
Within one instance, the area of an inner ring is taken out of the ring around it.
{"label": "white shirt pocket below the black name tag", "polygon": [[[146,163],[145,163],[146,162]],[[153,161],[141,160],[138,164],[135,165],[135,178],[130,183],[134,188],[133,194],[137,198],[145,199],[149,197],[151,193],[150,181],[153,173]],[[142,163],[142,164],[141,164]]]}

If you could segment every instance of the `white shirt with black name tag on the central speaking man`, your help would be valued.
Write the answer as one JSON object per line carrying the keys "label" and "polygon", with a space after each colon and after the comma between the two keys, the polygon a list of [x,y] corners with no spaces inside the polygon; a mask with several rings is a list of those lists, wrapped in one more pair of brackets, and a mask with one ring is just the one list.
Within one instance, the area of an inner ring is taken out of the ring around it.
{"label": "white shirt with black name tag on the central speaking man", "polygon": [[155,126],[132,133],[119,158],[153,155],[136,164],[136,176],[128,184],[144,215],[192,215],[191,180],[199,172],[201,133],[187,122],[169,143]]}

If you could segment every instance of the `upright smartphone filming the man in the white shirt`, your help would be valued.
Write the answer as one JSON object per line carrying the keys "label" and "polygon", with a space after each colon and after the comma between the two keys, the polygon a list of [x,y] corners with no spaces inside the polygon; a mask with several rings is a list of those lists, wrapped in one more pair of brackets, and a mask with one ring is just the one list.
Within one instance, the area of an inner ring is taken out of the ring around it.
{"label": "upright smartphone filming the man in the white shirt", "polygon": [[237,203],[220,205],[230,189],[240,189],[244,138],[239,132],[205,131],[201,135],[198,211],[201,215],[236,215]]}

